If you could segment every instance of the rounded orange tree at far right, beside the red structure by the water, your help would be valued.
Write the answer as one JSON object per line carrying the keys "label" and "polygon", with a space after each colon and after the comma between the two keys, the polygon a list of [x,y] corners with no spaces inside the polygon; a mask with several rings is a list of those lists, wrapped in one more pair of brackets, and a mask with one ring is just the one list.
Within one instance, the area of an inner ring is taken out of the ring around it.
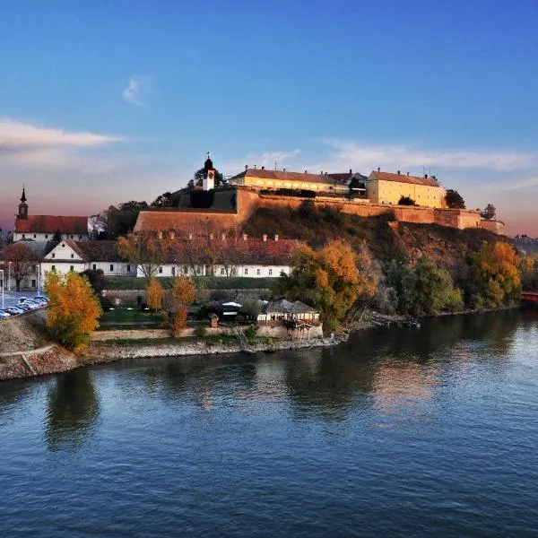
{"label": "rounded orange tree at far right, beside the red structure by the water", "polygon": [[521,258],[509,243],[483,243],[473,256],[472,302],[476,308],[499,308],[518,299],[521,292]]}

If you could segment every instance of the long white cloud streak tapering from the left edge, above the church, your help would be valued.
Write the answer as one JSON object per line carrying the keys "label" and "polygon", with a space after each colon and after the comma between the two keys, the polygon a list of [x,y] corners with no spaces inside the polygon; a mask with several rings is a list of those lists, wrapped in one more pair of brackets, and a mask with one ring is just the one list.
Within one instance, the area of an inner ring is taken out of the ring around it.
{"label": "long white cloud streak tapering from the left edge, above the church", "polygon": [[0,117],[0,157],[51,148],[88,148],[125,140],[122,136],[34,126],[9,117]]}

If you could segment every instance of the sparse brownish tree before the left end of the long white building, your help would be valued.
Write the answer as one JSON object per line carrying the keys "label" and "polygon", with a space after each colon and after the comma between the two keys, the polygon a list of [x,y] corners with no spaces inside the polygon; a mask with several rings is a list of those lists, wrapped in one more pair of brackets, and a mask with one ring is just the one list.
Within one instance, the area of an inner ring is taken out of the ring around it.
{"label": "sparse brownish tree before the left end of the long white building", "polygon": [[139,233],[117,239],[117,252],[136,264],[146,278],[157,273],[170,255],[171,241],[152,233]]}

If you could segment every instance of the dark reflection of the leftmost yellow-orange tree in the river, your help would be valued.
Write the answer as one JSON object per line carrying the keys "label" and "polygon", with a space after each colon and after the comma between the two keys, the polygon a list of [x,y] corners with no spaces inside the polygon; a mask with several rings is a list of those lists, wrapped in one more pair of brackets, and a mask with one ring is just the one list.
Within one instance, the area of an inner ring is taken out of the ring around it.
{"label": "dark reflection of the leftmost yellow-orange tree in the river", "polygon": [[89,369],[56,377],[48,390],[45,439],[48,449],[76,449],[91,436],[100,414],[100,402]]}

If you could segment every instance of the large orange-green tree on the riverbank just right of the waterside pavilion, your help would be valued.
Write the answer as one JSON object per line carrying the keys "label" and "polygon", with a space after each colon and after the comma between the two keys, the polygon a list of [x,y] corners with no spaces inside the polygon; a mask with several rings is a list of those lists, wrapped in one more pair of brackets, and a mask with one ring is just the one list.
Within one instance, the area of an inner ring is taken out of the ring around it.
{"label": "large orange-green tree on the riverbank just right of the waterside pavilion", "polygon": [[361,295],[374,291],[360,274],[359,261],[350,245],[340,240],[317,251],[301,247],[293,256],[291,273],[281,275],[276,291],[317,308],[325,328],[333,329]]}

